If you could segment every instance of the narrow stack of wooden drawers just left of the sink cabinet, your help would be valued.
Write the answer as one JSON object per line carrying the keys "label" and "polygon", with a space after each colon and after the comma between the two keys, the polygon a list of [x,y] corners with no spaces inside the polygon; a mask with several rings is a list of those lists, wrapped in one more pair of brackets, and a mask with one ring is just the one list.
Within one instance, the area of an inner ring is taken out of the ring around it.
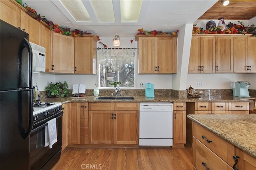
{"label": "narrow stack of wooden drawers just left of the sink cabinet", "polygon": [[80,103],[80,144],[88,144],[89,141],[89,111],[88,102]]}

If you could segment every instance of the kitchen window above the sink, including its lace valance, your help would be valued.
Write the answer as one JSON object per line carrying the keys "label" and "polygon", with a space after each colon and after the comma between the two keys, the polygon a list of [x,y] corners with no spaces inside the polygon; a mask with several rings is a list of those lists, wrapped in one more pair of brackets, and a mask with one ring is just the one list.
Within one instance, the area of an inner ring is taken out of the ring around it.
{"label": "kitchen window above the sink, including its lace valance", "polygon": [[134,87],[134,57],[132,49],[100,49],[98,84],[100,88],[112,87],[109,83],[121,82],[119,87]]}

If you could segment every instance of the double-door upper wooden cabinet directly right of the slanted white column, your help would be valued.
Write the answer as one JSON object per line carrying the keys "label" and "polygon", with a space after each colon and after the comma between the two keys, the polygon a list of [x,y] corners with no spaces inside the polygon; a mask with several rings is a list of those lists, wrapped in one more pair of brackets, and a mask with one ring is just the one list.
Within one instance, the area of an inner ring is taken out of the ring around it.
{"label": "double-door upper wooden cabinet directly right of the slanted white column", "polygon": [[215,72],[215,37],[192,36],[188,73]]}

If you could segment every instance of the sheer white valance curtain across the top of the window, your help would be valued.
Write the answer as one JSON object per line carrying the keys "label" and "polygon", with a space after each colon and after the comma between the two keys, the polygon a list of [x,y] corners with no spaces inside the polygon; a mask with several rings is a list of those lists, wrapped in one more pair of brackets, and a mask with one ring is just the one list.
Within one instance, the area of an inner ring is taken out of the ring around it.
{"label": "sheer white valance curtain across the top of the window", "polygon": [[121,71],[125,64],[134,63],[132,49],[100,49],[97,63],[110,66],[112,71]]}

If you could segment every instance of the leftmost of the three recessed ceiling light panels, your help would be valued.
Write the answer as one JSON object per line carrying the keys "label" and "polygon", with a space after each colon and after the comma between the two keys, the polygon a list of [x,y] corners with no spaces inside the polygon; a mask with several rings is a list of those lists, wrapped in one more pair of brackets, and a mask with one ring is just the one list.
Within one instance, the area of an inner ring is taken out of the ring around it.
{"label": "leftmost of the three recessed ceiling light panels", "polygon": [[76,21],[92,22],[82,0],[60,0]]}

